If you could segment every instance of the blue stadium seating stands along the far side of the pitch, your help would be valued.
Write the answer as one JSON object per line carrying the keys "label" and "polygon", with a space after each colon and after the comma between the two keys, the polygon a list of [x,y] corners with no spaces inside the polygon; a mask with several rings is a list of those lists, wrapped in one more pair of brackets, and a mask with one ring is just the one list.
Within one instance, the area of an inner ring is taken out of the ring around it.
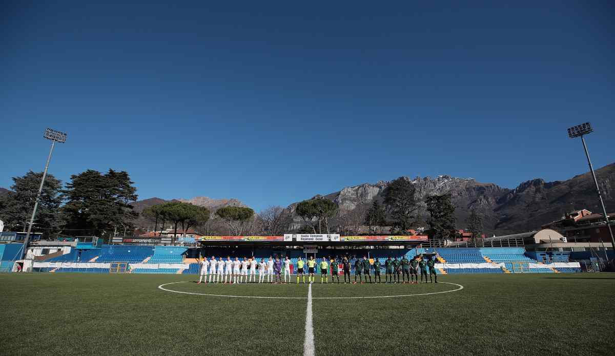
{"label": "blue stadium seating stands along the far side of the pitch", "polygon": [[[21,243],[0,244],[0,270],[10,271],[14,266],[15,260],[20,257]],[[352,272],[354,273],[355,258],[369,256],[370,259],[379,259],[381,264],[384,264],[386,259],[391,256],[401,259],[405,256],[408,259],[413,258],[421,253],[437,253],[440,267],[437,267],[437,273],[464,274],[464,273],[517,273],[517,272],[534,272],[534,273],[553,273],[553,272],[581,272],[580,267],[558,267],[551,263],[568,263],[576,262],[572,254],[566,251],[549,251],[534,252],[525,251],[524,248],[516,247],[488,247],[488,248],[374,248],[366,250],[344,250],[344,249],[319,249],[315,254],[309,254],[320,259],[325,256],[336,256],[341,261],[342,256],[351,258]],[[188,249],[180,246],[140,246],[140,245],[101,245],[101,247],[83,244],[73,247],[65,255],[54,256],[49,259],[44,259],[44,262],[50,263],[92,263],[98,264],[95,267],[76,268],[76,265],[65,267],[40,267],[38,272],[87,272],[87,273],[108,273],[109,263],[126,263],[126,264],[159,264],[160,266],[134,266],[132,273],[146,274],[197,274],[199,272],[199,264],[196,263],[197,258],[207,256],[216,256],[216,258],[224,258],[226,256],[235,256],[243,258],[244,256],[254,256],[260,260],[268,259],[269,256],[289,256],[292,262],[292,273],[296,271],[296,263],[298,257],[305,258],[305,254],[301,249],[280,249],[280,248],[207,248],[205,250]],[[579,255],[577,253],[577,255]],[[575,256],[577,257],[577,256]],[[592,255],[582,256],[587,257],[588,261]],[[485,264],[503,263],[505,267],[482,268],[474,266],[466,268],[465,266],[452,266],[454,264]],[[100,264],[107,264],[101,267]],[[168,264],[181,264],[182,266],[173,266],[169,268]],[[319,273],[319,264],[316,264],[316,272]],[[448,267],[447,267],[448,266]],[[531,266],[531,267],[530,267]],[[544,266],[544,267],[541,267]],[[578,266],[578,264],[577,264]],[[70,267],[70,268],[68,268]],[[82,267],[82,266],[79,266]],[[384,268],[384,267],[383,267]],[[587,269],[587,266],[585,266]],[[373,272],[373,269],[372,269]],[[384,272],[382,270],[381,272]]]}

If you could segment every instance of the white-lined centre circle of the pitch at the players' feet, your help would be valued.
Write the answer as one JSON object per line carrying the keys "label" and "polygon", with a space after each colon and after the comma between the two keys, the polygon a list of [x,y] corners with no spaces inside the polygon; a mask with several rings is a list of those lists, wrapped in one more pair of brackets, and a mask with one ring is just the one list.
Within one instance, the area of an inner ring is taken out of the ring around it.
{"label": "white-lined centre circle of the pitch at the players' feet", "polygon": [[[312,284],[312,299],[374,299],[374,298],[432,298],[444,293],[461,291],[457,283],[389,284],[366,283]],[[204,296],[208,298],[245,299],[308,299],[308,283],[269,284],[239,283],[237,285],[218,283],[196,283],[181,281],[164,283],[159,290],[178,295]]]}

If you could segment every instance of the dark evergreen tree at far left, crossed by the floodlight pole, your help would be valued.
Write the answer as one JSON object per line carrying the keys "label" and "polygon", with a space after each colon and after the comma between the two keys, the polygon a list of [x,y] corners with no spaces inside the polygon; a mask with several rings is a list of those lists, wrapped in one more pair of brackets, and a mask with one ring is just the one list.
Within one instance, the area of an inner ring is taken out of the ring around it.
{"label": "dark evergreen tree at far left, crossed by the floodlight pole", "polygon": [[[30,222],[41,179],[42,172],[32,171],[24,176],[13,177],[14,184],[10,191],[0,198],[0,220],[4,221],[6,229],[26,231],[26,222]],[[42,231],[43,235],[48,236],[50,231],[62,225],[61,192],[62,182],[47,174],[32,231]]]}

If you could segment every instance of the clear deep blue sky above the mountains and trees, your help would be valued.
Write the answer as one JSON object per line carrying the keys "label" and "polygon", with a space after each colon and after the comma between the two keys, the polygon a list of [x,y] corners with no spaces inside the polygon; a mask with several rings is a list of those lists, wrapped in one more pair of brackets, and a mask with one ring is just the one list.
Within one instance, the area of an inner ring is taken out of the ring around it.
{"label": "clear deep blue sky above the mountains and trees", "polygon": [[[514,188],[615,157],[609,1],[2,2],[0,187],[126,170],[257,210],[398,176]],[[430,2],[431,3],[431,2]]]}

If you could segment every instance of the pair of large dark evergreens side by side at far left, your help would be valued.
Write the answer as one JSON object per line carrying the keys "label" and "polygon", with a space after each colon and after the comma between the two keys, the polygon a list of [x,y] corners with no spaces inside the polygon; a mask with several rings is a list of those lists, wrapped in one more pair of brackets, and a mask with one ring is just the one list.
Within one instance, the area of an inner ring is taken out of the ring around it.
{"label": "pair of large dark evergreens side by side at far left", "polygon": [[[13,178],[7,194],[0,197],[0,219],[9,231],[23,231],[36,202],[42,172],[28,172]],[[48,174],[39,198],[33,231],[45,237],[102,236],[124,226],[133,227],[138,216],[131,202],[137,200],[137,188],[127,172],[109,169],[101,173],[86,170],[62,181]]]}

